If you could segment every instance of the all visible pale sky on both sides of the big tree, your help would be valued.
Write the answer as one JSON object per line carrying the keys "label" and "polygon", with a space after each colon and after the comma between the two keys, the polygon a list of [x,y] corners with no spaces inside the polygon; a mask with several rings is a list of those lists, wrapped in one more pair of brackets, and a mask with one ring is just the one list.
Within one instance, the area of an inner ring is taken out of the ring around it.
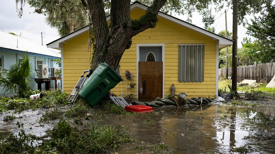
{"label": "all visible pale sky on both sides of the big tree", "polygon": [[[51,28],[45,23],[45,16],[37,13],[32,13],[34,8],[30,8],[25,4],[23,8],[22,18],[17,16],[15,0],[0,0],[0,31],[13,32],[22,37],[32,40],[38,44],[42,44],[46,47],[46,44],[53,42],[60,38],[56,29]],[[228,10],[228,8],[225,8]],[[223,11],[225,10],[223,9]],[[225,15],[223,12],[217,12],[215,17],[215,23],[211,27],[215,27],[216,34],[222,30],[225,30]],[[186,20],[186,16],[175,16],[179,19]],[[250,21],[252,16],[248,16]],[[194,14],[192,21],[194,25],[204,28],[204,24],[201,22],[201,17],[198,14]],[[227,12],[227,30],[232,32],[232,10]],[[41,37],[42,32],[42,37]],[[242,47],[241,42],[244,37],[250,38],[245,34],[246,28],[242,25],[238,26],[238,48]],[[253,39],[252,39],[253,40]]]}

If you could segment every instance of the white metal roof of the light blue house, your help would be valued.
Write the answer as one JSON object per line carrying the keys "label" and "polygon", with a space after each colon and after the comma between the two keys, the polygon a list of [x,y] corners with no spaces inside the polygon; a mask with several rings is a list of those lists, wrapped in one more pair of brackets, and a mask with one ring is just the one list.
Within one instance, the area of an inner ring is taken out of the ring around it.
{"label": "white metal roof of the light blue house", "polygon": [[0,31],[0,50],[8,52],[22,53],[50,58],[61,58],[58,51],[43,47],[40,44],[32,42],[30,39],[19,37]]}

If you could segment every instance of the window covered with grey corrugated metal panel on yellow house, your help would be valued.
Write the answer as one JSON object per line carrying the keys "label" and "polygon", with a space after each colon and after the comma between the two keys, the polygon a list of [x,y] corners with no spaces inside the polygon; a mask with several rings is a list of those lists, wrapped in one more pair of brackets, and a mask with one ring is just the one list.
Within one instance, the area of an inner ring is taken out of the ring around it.
{"label": "window covered with grey corrugated metal panel on yellow house", "polygon": [[204,44],[179,44],[178,82],[204,81]]}

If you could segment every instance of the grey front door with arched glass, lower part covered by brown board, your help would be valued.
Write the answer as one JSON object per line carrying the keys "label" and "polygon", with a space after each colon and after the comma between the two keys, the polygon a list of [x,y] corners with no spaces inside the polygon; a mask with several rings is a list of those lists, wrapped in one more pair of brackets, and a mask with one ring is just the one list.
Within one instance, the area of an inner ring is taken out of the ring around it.
{"label": "grey front door with arched glass, lower part covered by brown board", "polygon": [[154,101],[162,97],[162,47],[139,47],[139,101]]}

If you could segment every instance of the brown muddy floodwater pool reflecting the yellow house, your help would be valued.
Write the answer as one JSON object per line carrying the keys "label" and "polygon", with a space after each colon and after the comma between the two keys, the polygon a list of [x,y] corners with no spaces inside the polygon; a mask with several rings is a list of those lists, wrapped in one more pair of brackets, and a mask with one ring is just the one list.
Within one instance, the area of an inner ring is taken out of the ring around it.
{"label": "brown muddy floodwater pool reflecting the yellow house", "polygon": [[[233,148],[240,147],[248,153],[275,153],[274,110],[225,105],[163,107],[154,108],[161,115],[157,122],[151,119],[147,127],[128,125],[140,142],[165,143],[173,153],[234,153]],[[146,148],[121,148],[117,152],[151,153]]]}

